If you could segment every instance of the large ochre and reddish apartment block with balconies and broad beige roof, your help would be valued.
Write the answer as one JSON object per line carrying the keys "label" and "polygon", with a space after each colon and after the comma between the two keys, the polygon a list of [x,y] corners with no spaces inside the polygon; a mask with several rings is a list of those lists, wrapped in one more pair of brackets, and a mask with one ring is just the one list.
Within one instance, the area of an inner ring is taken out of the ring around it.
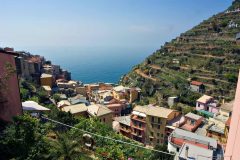
{"label": "large ochre and reddish apartment block with balconies and broad beige roof", "polygon": [[136,106],[131,115],[132,139],[146,145],[162,144],[168,121],[178,117],[176,110],[158,106]]}

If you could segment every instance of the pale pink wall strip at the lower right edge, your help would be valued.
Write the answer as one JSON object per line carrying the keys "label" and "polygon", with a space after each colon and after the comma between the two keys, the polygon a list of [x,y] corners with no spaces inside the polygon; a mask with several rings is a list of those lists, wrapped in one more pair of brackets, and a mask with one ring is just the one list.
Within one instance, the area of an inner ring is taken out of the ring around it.
{"label": "pale pink wall strip at the lower right edge", "polygon": [[227,147],[224,155],[225,160],[240,159],[240,74],[236,89],[235,101],[233,104],[233,112],[228,134]]}

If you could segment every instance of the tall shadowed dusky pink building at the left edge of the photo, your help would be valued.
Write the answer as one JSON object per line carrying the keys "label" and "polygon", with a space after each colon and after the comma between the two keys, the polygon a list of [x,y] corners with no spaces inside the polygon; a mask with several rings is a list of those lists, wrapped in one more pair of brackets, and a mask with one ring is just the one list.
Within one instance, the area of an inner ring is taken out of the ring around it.
{"label": "tall shadowed dusky pink building at the left edge of the photo", "polygon": [[[13,116],[22,114],[22,105],[18,86],[17,74],[13,73],[6,78],[6,65],[16,69],[14,52],[0,51],[0,119],[11,121]],[[4,80],[5,79],[5,80]]]}

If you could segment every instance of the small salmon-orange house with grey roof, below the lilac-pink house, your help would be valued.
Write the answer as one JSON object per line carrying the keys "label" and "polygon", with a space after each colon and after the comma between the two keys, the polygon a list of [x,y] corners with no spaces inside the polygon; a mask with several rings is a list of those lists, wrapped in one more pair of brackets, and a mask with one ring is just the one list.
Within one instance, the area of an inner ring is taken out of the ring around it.
{"label": "small salmon-orange house with grey roof, below the lilac-pink house", "polygon": [[193,114],[193,113],[188,113],[185,116],[184,124],[181,126],[182,129],[194,132],[196,129],[202,124],[203,117]]}

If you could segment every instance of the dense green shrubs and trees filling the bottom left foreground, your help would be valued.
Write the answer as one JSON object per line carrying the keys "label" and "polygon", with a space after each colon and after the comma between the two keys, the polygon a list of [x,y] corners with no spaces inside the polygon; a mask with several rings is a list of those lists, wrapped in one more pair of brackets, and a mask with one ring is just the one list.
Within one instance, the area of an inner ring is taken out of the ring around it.
{"label": "dense green shrubs and trees filling the bottom left foreground", "polygon": [[[49,105],[48,107],[53,107]],[[162,153],[138,148],[128,144],[104,139],[92,135],[93,148],[85,146],[82,130],[104,137],[142,145],[122,135],[115,133],[112,128],[92,118],[74,118],[70,113],[58,110],[51,111],[48,116],[55,120],[75,126],[66,126],[46,122],[31,117],[28,114],[14,118],[8,124],[0,137],[0,159],[138,159],[148,160],[169,157]],[[156,148],[156,149],[162,149]],[[167,151],[164,149],[164,151]]]}

